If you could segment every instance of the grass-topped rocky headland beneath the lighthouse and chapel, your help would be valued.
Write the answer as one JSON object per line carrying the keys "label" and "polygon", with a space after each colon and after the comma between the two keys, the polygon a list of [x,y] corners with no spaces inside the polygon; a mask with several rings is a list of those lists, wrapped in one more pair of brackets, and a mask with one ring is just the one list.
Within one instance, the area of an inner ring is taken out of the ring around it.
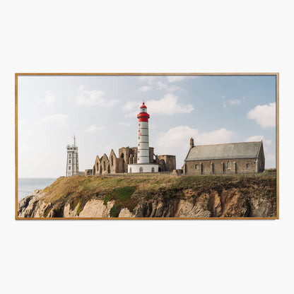
{"label": "grass-topped rocky headland beneath the lighthouse and chapel", "polygon": [[[156,182],[158,187],[154,187]],[[18,217],[274,218],[275,189],[274,178],[59,178],[45,190],[21,199]]]}

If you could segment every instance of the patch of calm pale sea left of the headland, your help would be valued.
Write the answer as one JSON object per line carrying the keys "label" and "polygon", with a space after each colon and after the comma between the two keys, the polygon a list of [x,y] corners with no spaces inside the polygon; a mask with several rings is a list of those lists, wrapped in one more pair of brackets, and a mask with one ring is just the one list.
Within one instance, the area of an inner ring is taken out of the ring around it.
{"label": "patch of calm pale sea left of the headland", "polygon": [[18,179],[18,200],[29,196],[35,189],[45,189],[57,180],[56,178],[19,178]]}

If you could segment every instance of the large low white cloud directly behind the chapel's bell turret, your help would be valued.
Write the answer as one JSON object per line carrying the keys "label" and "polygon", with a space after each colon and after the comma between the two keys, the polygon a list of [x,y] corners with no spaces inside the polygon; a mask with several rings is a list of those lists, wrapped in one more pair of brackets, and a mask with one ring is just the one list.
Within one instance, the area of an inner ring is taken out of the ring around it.
{"label": "large low white cloud directly behind the chapel's bell turret", "polygon": [[179,126],[169,129],[158,136],[155,143],[155,152],[158,154],[177,155],[177,167],[184,164],[184,158],[189,150],[189,139],[194,138],[194,144],[205,145],[213,143],[229,143],[234,136],[233,131],[217,129],[215,131],[199,131],[188,126]]}

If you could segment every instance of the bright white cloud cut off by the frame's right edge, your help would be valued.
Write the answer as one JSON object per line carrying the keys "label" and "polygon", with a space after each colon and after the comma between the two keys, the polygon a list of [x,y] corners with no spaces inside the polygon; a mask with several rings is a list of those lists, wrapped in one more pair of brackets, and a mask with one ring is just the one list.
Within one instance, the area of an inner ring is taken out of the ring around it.
{"label": "bright white cloud cut off by the frame's right edge", "polygon": [[276,127],[276,102],[257,105],[247,113],[248,119],[255,119],[263,129]]}

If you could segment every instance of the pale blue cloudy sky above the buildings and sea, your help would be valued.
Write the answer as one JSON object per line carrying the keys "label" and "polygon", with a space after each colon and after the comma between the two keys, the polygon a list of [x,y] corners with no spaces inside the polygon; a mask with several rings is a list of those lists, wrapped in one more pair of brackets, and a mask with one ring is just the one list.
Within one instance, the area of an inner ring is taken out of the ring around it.
{"label": "pale blue cloudy sky above the buildings and sea", "polygon": [[184,164],[195,145],[263,141],[276,167],[276,76],[18,76],[18,177],[60,177],[66,146],[80,171],[137,144],[142,101],[155,154]]}

